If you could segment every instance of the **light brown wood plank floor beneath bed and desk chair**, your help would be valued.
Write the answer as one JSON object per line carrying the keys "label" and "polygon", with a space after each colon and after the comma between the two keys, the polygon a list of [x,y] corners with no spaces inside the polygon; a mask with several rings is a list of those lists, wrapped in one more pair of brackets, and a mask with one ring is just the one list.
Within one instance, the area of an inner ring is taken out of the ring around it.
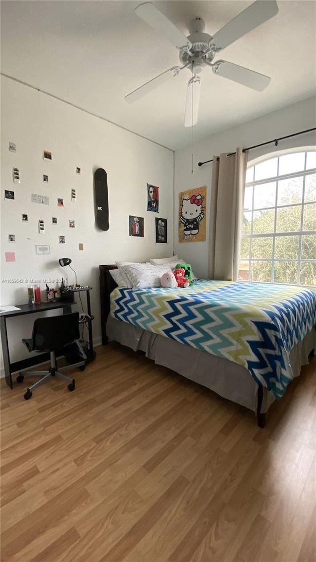
{"label": "light brown wood plank floor beneath bed and desk chair", "polygon": [[2,385],[2,562],[315,562],[316,357],[259,429],[140,352],[96,351],[72,393]]}

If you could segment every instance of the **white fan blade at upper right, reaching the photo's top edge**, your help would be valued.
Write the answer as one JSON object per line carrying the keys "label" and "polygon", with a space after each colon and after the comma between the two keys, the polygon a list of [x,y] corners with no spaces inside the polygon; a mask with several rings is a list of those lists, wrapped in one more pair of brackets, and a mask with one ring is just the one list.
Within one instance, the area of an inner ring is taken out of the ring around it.
{"label": "white fan blade at upper right, reaching the photo's top edge", "polygon": [[222,51],[258,25],[269,20],[270,17],[276,16],[278,11],[278,4],[275,0],[257,0],[215,33],[213,37],[215,47]]}

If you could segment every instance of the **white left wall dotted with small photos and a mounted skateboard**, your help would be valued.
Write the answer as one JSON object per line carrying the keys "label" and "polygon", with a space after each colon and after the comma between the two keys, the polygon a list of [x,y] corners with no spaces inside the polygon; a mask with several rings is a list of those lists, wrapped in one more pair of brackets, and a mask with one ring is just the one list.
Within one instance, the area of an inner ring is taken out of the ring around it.
{"label": "white left wall dotted with small photos and a mounted skateboard", "polygon": [[[72,271],[58,264],[60,257],[70,257],[79,282],[93,286],[93,337],[100,343],[98,266],[173,254],[174,153],[13,80],[2,79],[1,94],[0,304],[27,302],[27,283],[6,283],[6,279],[63,276],[73,282]],[[8,150],[9,142],[16,144],[16,153]],[[52,161],[43,160],[43,149],[52,151]],[[19,168],[20,184],[13,183],[12,167]],[[94,222],[93,171],[98,167],[107,171],[109,185],[107,232]],[[43,174],[48,175],[47,184]],[[147,182],[160,188],[159,215],[147,211]],[[71,202],[71,188],[76,189],[76,202]],[[14,201],[4,200],[5,189],[15,192]],[[31,203],[31,193],[49,196],[49,205]],[[57,207],[58,197],[64,198],[64,207]],[[22,213],[28,214],[27,223],[22,223]],[[145,217],[144,238],[129,236],[129,215]],[[52,224],[52,216],[57,217],[57,225]],[[155,243],[155,216],[168,219],[168,244]],[[44,235],[38,233],[39,219],[44,220]],[[75,228],[69,228],[73,219]],[[15,234],[15,243],[8,242],[8,234]],[[58,242],[62,234],[65,244]],[[79,242],[84,251],[79,251]],[[51,254],[35,255],[35,244],[49,244]],[[15,262],[4,260],[7,251],[15,252]],[[30,337],[35,318],[8,320],[12,360],[25,356],[21,338]]]}

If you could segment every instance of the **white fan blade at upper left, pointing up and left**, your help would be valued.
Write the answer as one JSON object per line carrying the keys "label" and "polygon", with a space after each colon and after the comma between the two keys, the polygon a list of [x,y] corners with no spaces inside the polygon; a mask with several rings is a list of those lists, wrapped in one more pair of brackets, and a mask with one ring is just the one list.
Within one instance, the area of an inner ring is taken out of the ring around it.
{"label": "white fan blade at upper left, pointing up and left", "polygon": [[189,42],[182,31],[151,2],[139,4],[139,6],[135,8],[135,12],[142,20],[146,21],[146,24],[151,25],[152,28],[162,35],[162,37],[168,39],[177,49],[182,51],[191,49],[192,43]]}

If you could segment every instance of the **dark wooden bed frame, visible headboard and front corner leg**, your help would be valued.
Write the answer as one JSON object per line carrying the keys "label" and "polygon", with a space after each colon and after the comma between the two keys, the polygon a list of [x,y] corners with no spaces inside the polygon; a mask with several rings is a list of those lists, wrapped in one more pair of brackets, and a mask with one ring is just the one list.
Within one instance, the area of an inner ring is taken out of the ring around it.
{"label": "dark wooden bed frame, visible headboard and front corner leg", "polygon": [[[110,269],[118,269],[115,264],[100,265],[100,300],[101,300],[101,336],[102,345],[107,345],[108,338],[106,334],[106,321],[110,314],[110,294],[114,291],[115,287],[118,285],[115,283],[114,279],[110,274]],[[261,413],[261,406],[263,402],[263,386],[258,384],[258,396],[257,396],[257,407],[256,407],[256,417],[258,426],[263,428],[265,426],[265,414]]]}

